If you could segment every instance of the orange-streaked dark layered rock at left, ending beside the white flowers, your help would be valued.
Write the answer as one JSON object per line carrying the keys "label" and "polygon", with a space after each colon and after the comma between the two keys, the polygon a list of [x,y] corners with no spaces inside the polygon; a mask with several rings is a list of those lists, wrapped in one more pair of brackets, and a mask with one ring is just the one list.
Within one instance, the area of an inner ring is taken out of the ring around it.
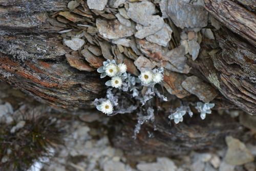
{"label": "orange-streaked dark layered rock at left, ending beside the white flowers", "polygon": [[[67,107],[83,108],[103,90],[98,74],[73,69],[67,61],[12,60],[0,53],[2,79],[40,101]],[[6,77],[9,74],[11,76]]]}

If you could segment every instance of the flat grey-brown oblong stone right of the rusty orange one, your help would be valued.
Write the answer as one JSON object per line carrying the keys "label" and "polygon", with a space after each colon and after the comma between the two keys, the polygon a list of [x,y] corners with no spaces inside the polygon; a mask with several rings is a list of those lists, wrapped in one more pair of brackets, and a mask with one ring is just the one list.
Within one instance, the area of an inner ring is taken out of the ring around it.
{"label": "flat grey-brown oblong stone right of the rusty orange one", "polygon": [[187,77],[181,83],[181,86],[205,103],[210,102],[218,95],[218,92],[214,88],[196,76]]}

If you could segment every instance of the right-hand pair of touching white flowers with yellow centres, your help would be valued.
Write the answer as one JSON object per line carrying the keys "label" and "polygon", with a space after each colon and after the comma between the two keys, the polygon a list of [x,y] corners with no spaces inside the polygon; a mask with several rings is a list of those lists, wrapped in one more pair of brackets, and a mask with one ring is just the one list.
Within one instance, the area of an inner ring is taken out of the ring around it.
{"label": "right-hand pair of touching white flowers with yellow centres", "polygon": [[163,68],[144,71],[140,74],[139,79],[143,86],[154,86],[163,80]]}

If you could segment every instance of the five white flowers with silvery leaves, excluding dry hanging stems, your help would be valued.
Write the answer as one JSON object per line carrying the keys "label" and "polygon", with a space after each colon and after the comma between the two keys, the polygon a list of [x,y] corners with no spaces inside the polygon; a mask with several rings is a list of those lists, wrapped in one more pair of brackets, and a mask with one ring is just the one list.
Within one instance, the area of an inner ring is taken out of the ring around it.
{"label": "five white flowers with silvery leaves, excluding dry hanging stems", "polygon": [[[117,91],[119,89],[122,92],[127,92],[126,94],[129,94],[130,97],[135,97],[142,103],[142,105],[144,105],[146,101],[150,100],[154,96],[158,96],[162,100],[167,101],[167,98],[161,95],[160,92],[154,87],[156,83],[160,83],[163,80],[163,68],[142,72],[139,77],[126,73],[126,70],[127,67],[124,63],[119,63],[117,65],[115,60],[106,60],[103,62],[103,66],[98,68],[97,71],[101,73],[100,78],[104,78],[106,76],[111,77],[111,80],[106,81],[105,85],[116,88],[116,90],[113,91],[115,94],[118,94],[118,96],[122,96],[120,95],[120,92],[118,93]],[[138,84],[136,86],[136,83],[141,83],[142,86],[138,86]],[[148,88],[145,94],[141,93],[143,86]],[[110,93],[111,91],[112,89],[107,91],[106,98],[95,99],[94,101],[96,108],[107,115],[111,115],[113,113],[114,106],[118,105],[118,98],[114,97],[114,95]],[[109,98],[110,95],[112,100]],[[138,104],[133,104],[130,107],[126,106],[126,109],[129,109],[130,111],[135,110],[137,105]],[[123,105],[120,104],[120,106]],[[124,110],[119,108],[120,106],[117,106],[118,111],[115,111],[115,114],[124,113]]]}

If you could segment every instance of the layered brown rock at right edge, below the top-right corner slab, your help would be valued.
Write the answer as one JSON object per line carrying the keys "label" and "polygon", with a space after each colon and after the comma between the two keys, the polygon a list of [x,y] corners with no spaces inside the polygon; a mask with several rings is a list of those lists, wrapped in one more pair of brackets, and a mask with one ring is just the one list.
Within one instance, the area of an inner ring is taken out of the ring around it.
{"label": "layered brown rock at right edge, below the top-right corner slab", "polygon": [[[223,29],[216,33],[219,45],[205,40],[202,51],[221,48],[216,54],[201,53],[189,65],[198,69],[228,100],[248,114],[256,114],[256,51],[238,35]],[[208,48],[212,47],[212,48]]]}

